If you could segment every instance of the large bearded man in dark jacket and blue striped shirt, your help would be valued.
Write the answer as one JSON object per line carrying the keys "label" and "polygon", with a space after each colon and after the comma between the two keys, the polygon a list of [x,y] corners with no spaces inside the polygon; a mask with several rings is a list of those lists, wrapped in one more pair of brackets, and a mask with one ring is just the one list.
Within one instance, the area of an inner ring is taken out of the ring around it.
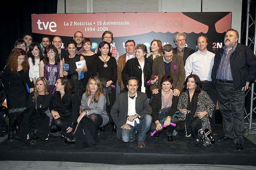
{"label": "large bearded man in dark jacket and blue striped shirt", "polygon": [[216,88],[222,113],[224,136],[218,141],[234,140],[236,149],[243,150],[244,95],[249,83],[255,81],[256,57],[247,46],[238,43],[238,32],[227,30],[225,46],[220,48],[212,67],[212,85]]}

